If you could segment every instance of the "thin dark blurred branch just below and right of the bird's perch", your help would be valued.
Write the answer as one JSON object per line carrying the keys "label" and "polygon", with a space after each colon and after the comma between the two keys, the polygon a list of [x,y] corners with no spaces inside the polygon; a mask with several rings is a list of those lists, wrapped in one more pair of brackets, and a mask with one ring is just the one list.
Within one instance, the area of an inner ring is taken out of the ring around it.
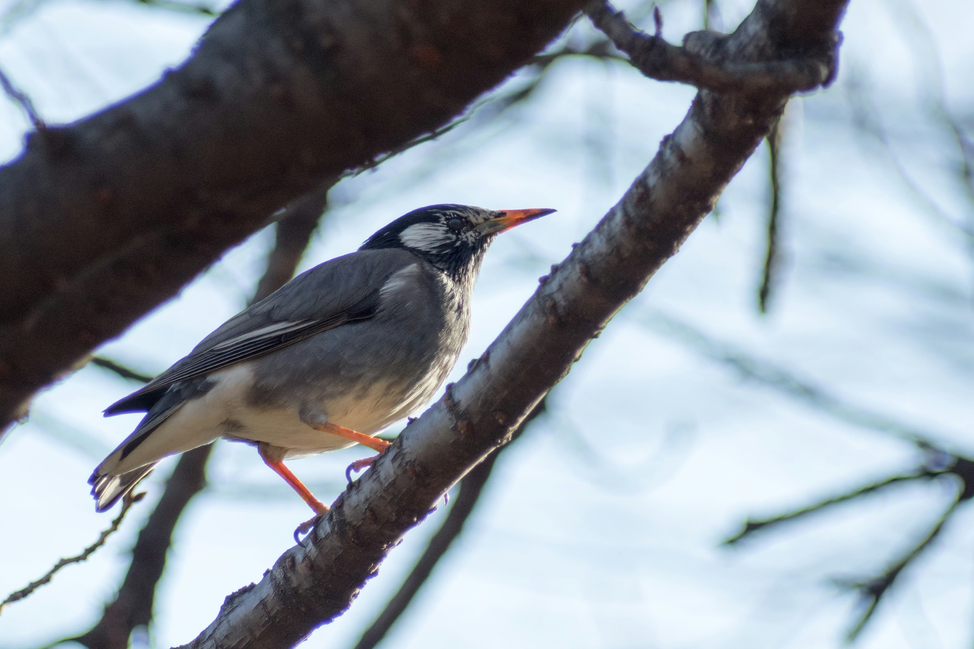
{"label": "thin dark blurred branch just below and right of the bird's perch", "polygon": [[[528,424],[543,412],[544,400],[539,402],[535,406],[535,409],[524,418],[524,421],[511,434],[510,441],[513,442],[519,438]],[[356,643],[355,649],[373,649],[393,628],[396,620],[399,619],[410,602],[412,602],[413,597],[419,593],[427,579],[430,578],[436,563],[450,549],[450,544],[460,536],[460,533],[464,529],[464,523],[467,523],[470,514],[473,512],[473,508],[480,499],[480,494],[483,492],[484,486],[487,484],[488,479],[490,479],[491,471],[497,462],[497,458],[509,447],[510,443],[508,442],[506,446],[491,452],[463,477],[460,481],[460,494],[454,499],[453,506],[450,508],[446,519],[430,539],[430,543],[423,556],[413,566],[409,576],[406,577],[402,586],[399,587],[399,590],[393,595],[393,598],[386,604],[386,608],[379,614],[379,617],[372,623],[372,626],[362,633],[361,638]]]}

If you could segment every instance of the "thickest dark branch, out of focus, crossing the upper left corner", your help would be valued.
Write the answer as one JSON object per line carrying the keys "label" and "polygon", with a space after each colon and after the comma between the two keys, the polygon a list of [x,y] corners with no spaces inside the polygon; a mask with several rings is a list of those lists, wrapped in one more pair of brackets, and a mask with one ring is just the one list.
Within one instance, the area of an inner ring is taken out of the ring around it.
{"label": "thickest dark branch, out of focus, crossing the upper left corner", "polygon": [[148,90],[0,168],[0,431],[277,209],[448,122],[581,0],[240,0]]}

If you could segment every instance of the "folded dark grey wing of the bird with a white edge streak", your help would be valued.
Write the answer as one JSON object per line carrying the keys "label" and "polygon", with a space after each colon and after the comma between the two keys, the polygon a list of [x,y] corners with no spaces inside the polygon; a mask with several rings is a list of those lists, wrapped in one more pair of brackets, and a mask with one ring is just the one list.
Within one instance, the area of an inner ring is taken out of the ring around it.
{"label": "folded dark grey wing of the bird with a white edge streak", "polygon": [[147,411],[175,382],[368,319],[378,310],[389,278],[417,262],[401,249],[362,250],[307,270],[227,320],[169,370],[105,409],[105,415]]}

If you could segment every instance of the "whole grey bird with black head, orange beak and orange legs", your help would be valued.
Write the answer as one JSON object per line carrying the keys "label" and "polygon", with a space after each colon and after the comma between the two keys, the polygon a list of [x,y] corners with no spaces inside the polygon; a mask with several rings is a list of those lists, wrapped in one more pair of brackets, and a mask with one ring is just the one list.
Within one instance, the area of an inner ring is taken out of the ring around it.
{"label": "whole grey bird with black head, orange beak and orange legs", "polygon": [[95,510],[111,508],[164,457],[223,438],[255,446],[316,518],[325,514],[283,460],[355,444],[381,454],[390,443],[374,435],[429,401],[467,343],[491,242],[554,211],[421,207],[246,307],[105,409],[145,416],[94,469]]}

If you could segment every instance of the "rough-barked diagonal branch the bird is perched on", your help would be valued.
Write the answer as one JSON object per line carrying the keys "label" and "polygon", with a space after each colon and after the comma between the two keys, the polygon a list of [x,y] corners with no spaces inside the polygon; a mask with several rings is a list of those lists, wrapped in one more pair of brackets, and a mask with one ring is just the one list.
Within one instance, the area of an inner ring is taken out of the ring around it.
{"label": "rough-barked diagonal branch the bird is perched on", "polygon": [[[700,52],[741,63],[818,55],[832,66],[844,7],[844,0],[759,0],[730,37],[708,35]],[[403,533],[509,439],[585,345],[678,250],[768,135],[789,92],[699,92],[653,162],[543,277],[467,375],[406,427],[259,584],[228,596],[188,646],[280,649],[346,610]]]}

